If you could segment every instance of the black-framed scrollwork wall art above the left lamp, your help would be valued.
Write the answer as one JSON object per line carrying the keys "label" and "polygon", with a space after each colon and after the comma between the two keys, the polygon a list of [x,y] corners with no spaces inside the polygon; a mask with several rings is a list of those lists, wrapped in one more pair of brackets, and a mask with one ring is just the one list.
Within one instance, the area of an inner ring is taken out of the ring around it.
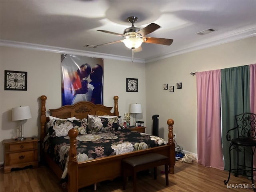
{"label": "black-framed scrollwork wall art above the left lamp", "polygon": [[26,91],[27,74],[24,71],[4,70],[4,90]]}

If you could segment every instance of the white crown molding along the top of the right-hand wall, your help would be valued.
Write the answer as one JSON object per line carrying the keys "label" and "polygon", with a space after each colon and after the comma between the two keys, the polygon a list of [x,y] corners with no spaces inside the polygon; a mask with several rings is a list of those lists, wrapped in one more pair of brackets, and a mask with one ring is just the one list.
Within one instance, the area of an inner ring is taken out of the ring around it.
{"label": "white crown molding along the top of the right-hand wall", "polygon": [[154,62],[154,61],[166,59],[166,58],[169,58],[172,56],[181,55],[184,53],[201,50],[204,48],[209,48],[212,46],[217,46],[217,45],[221,45],[221,44],[225,44],[225,43],[229,43],[229,42],[233,42],[233,41],[237,41],[237,40],[241,40],[241,39],[245,39],[245,38],[250,38],[250,37],[254,37],[254,36],[256,36],[256,27],[253,27],[253,28],[250,28],[247,30],[243,30],[240,32],[234,32],[232,34],[228,34],[228,35],[224,35],[224,36],[219,36],[218,38],[215,38],[215,39],[209,39],[204,42],[200,42],[196,45],[192,45],[190,47],[187,47],[187,48],[184,48],[181,50],[170,52],[168,54],[165,54],[165,55],[162,55],[159,57],[149,58],[149,59],[146,59],[146,63]]}

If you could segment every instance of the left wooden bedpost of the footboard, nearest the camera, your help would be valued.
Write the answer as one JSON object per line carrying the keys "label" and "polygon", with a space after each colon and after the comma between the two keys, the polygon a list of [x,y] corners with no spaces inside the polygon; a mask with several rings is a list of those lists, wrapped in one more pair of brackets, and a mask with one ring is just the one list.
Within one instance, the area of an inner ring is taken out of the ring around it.
{"label": "left wooden bedpost of the footboard, nearest the camera", "polygon": [[76,137],[78,131],[70,129],[68,131],[70,137],[70,149],[68,157],[68,192],[78,192],[78,166],[76,161]]}

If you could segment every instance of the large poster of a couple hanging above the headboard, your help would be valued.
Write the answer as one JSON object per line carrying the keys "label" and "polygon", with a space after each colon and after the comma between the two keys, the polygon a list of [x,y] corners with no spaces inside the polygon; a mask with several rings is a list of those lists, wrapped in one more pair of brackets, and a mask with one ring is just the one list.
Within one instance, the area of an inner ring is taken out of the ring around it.
{"label": "large poster of a couple hanging above the headboard", "polygon": [[61,54],[62,106],[103,104],[103,59]]}

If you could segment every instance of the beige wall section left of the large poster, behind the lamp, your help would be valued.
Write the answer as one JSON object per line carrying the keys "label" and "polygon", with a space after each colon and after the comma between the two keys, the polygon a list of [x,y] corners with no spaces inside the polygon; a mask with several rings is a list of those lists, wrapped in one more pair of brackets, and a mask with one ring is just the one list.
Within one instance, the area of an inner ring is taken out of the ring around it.
{"label": "beige wall section left of the large poster, behind the lamp", "polygon": [[[12,108],[30,106],[32,119],[24,125],[24,136],[38,136],[40,113],[38,100],[42,94],[55,95],[48,101],[52,107],[60,106],[60,54],[27,49],[1,47],[1,162],[3,162],[2,140],[15,136],[17,122],[12,122]],[[27,91],[4,90],[4,70],[28,72]]]}

